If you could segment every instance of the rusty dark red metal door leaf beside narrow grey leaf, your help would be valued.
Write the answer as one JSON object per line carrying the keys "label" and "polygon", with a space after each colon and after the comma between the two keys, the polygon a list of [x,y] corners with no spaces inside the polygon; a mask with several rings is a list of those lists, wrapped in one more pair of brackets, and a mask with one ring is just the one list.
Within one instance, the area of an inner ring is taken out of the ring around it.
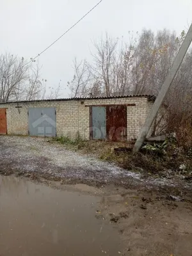
{"label": "rusty dark red metal door leaf beside narrow grey leaf", "polygon": [[108,106],[106,114],[108,140],[127,140],[127,106]]}

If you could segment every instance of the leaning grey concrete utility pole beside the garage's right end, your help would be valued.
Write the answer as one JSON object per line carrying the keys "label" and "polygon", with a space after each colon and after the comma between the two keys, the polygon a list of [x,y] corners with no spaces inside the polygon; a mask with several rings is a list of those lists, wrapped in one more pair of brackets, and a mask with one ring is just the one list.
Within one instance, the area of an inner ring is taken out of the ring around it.
{"label": "leaning grey concrete utility pole beside the garage's right end", "polygon": [[136,140],[136,143],[134,145],[134,148],[133,148],[134,151],[140,150],[141,146],[143,145],[143,142],[147,136],[147,133],[152,123],[154,122],[154,119],[156,118],[157,112],[164,100],[164,97],[168,91],[168,88],[170,88],[170,85],[172,84],[172,81],[175,75],[177,74],[180,64],[182,63],[182,60],[186,55],[186,52],[188,51],[191,41],[192,41],[192,24],[188,30],[186,37],[184,38],[184,41],[182,42],[182,45],[180,46],[179,52],[175,57],[172,68],[170,68],[170,71],[168,72],[168,75],[164,80],[163,86],[161,87],[161,90],[157,95],[154,105],[152,106],[152,109],[150,110],[150,113],[148,114],[147,119],[145,120],[145,124],[143,125],[143,128],[141,129],[138,139]]}

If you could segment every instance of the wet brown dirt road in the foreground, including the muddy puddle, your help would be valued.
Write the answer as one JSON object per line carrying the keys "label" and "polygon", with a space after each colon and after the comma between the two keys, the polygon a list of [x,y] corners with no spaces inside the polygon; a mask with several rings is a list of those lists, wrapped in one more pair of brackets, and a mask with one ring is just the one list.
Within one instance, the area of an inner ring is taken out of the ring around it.
{"label": "wet brown dirt road in the foreground, including the muddy puddle", "polygon": [[0,175],[0,255],[191,256],[192,204]]}

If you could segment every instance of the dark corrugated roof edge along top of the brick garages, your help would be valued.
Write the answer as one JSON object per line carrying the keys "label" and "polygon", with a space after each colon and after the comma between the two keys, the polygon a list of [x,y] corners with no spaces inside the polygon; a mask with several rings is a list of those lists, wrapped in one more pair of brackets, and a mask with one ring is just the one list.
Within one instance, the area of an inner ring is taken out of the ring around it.
{"label": "dark corrugated roof edge along top of the brick garages", "polygon": [[127,98],[127,97],[147,97],[149,100],[156,99],[156,97],[154,95],[124,95],[124,96],[110,96],[110,97],[79,97],[79,98],[40,99],[40,100],[12,100],[12,101],[8,101],[8,102],[0,102],[0,104],[42,102],[42,101],[121,99],[121,98]]}

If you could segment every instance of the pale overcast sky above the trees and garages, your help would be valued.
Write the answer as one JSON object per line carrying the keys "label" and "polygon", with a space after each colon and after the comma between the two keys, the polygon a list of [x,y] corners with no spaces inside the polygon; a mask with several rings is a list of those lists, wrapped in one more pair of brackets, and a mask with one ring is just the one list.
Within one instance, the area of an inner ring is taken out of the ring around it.
{"label": "pale overcast sky above the trees and garages", "polygon": [[[1,0],[0,49],[24,58],[43,51],[99,0]],[[81,23],[39,57],[47,86],[61,79],[63,97],[73,76],[72,60],[89,58],[92,41],[108,31],[127,36],[143,28],[178,33],[192,21],[192,0],[103,0]]]}

